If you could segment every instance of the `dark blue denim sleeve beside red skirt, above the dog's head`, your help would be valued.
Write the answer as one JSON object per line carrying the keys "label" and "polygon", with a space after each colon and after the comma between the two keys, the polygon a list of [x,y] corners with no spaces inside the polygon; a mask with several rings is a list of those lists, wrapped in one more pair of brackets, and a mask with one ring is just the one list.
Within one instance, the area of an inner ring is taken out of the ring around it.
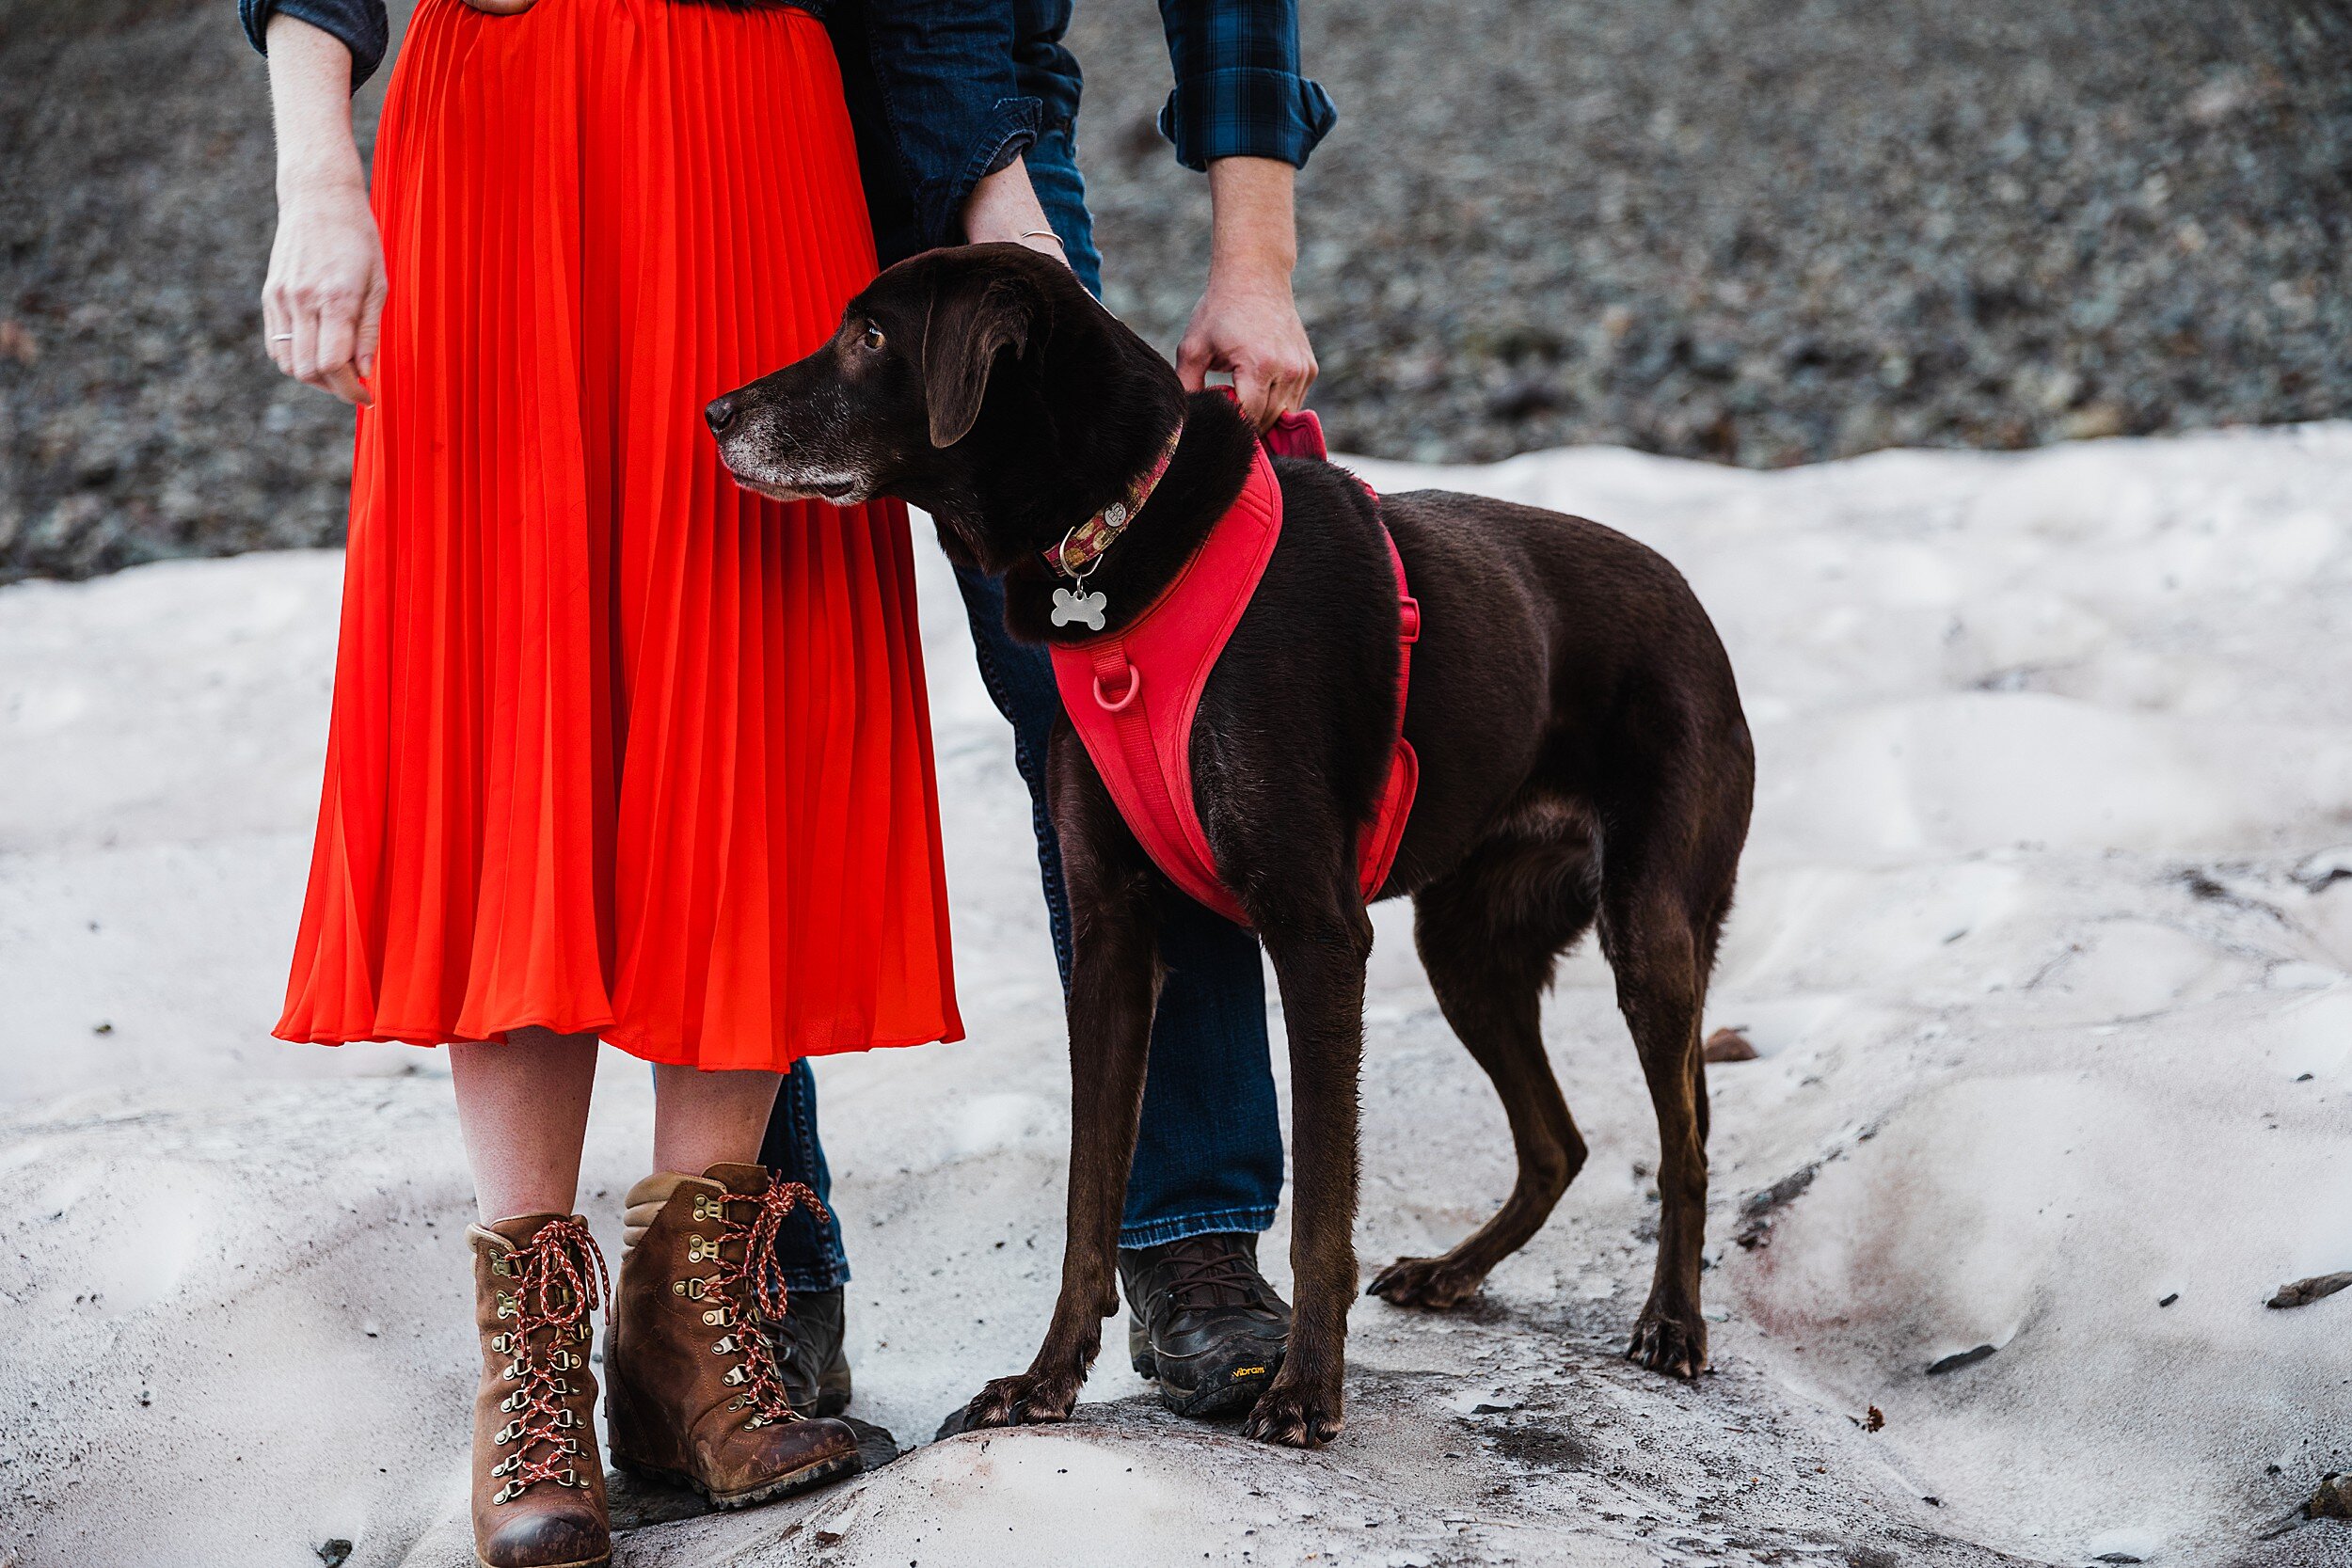
{"label": "dark blue denim sleeve beside red skirt, above the dog's head", "polygon": [[1014,78],[1014,9],[1007,0],[866,0],[863,12],[920,242],[950,244],[971,188],[1025,153],[1042,125],[1042,106]]}

